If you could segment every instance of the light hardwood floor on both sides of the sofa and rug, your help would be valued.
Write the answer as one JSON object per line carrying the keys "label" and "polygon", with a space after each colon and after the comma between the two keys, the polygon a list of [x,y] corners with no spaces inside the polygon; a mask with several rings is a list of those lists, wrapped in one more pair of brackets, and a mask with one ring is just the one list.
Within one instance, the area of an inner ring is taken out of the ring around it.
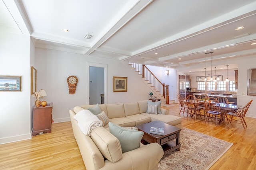
{"label": "light hardwood floor on both sides of the sofa and rug", "polygon": [[[182,126],[233,143],[233,146],[210,170],[256,169],[256,119],[246,117],[247,129],[232,122],[227,126],[214,121],[186,118],[180,106],[170,106],[170,115],[182,117]],[[2,170],[85,170],[82,157],[73,136],[71,122],[53,123],[52,133],[36,135],[32,139],[0,145],[0,169]]]}

